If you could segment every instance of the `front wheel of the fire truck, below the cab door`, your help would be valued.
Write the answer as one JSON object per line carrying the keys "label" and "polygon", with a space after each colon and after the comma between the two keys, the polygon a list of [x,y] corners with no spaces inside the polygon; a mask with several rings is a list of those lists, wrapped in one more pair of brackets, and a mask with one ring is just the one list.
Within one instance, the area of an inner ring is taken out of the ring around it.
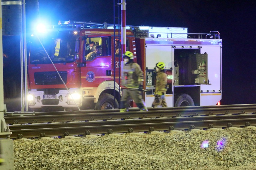
{"label": "front wheel of the fire truck, below the cab door", "polygon": [[118,103],[114,102],[114,96],[108,93],[101,94],[98,102],[96,103],[95,109],[105,110],[105,109],[114,109],[114,108],[118,108]]}

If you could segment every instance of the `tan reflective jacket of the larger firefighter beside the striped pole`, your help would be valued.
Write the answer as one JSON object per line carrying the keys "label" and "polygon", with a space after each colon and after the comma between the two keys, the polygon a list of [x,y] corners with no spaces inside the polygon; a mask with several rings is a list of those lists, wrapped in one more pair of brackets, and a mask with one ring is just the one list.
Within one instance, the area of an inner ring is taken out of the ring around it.
{"label": "tan reflective jacket of the larger firefighter beside the striped pole", "polygon": [[144,83],[143,72],[137,63],[128,63],[123,65],[122,69],[122,86],[129,88],[138,88]]}

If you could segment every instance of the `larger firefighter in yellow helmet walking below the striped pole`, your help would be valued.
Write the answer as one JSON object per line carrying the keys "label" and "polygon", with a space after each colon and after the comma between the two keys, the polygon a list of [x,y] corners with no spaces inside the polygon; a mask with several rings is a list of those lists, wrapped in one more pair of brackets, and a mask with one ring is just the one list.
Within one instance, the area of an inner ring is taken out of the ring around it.
{"label": "larger firefighter in yellow helmet walking below the striped pole", "polygon": [[133,53],[126,51],[123,54],[122,69],[122,98],[120,112],[128,112],[130,98],[134,100],[140,111],[148,111],[142,99],[144,77],[139,64],[133,62]]}

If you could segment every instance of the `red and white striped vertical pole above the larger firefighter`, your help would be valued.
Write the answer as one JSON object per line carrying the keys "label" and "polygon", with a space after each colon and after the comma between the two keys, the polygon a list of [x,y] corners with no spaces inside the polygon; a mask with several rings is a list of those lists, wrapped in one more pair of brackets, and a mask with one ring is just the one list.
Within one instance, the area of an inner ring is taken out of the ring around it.
{"label": "red and white striped vertical pole above the larger firefighter", "polygon": [[122,54],[126,51],[125,0],[121,0],[121,47]]}

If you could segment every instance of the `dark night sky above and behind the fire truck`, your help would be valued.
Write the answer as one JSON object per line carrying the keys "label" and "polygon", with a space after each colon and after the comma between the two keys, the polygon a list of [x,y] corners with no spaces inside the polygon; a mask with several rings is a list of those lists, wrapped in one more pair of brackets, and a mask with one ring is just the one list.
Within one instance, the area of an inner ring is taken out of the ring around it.
{"label": "dark night sky above and behind the fire truck", "polygon": [[[36,21],[33,7],[26,2],[29,30]],[[113,23],[113,6],[113,0],[39,0],[36,14],[46,25],[59,20]],[[126,25],[187,27],[189,33],[219,31],[221,104],[252,104],[256,103],[255,11],[256,1],[251,0],[126,0]]]}

